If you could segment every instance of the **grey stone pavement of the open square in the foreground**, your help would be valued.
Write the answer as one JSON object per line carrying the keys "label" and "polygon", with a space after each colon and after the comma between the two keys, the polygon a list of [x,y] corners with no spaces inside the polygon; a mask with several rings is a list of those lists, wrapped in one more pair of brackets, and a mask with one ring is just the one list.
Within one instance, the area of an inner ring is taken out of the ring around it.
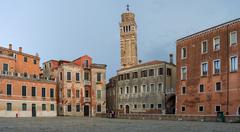
{"label": "grey stone pavement of the open square in the foreground", "polygon": [[0,132],[240,132],[240,124],[81,117],[0,118]]}

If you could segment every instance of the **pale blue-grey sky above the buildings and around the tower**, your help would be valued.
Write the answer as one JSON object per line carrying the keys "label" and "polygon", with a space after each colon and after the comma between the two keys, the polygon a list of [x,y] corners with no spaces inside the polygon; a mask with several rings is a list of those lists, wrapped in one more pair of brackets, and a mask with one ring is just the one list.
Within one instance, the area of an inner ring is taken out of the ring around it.
{"label": "pale blue-grey sky above the buildings and around the tower", "polygon": [[169,61],[176,40],[240,18],[240,0],[0,0],[0,46],[74,60],[85,54],[120,68],[121,14],[126,5],[138,25],[138,59]]}

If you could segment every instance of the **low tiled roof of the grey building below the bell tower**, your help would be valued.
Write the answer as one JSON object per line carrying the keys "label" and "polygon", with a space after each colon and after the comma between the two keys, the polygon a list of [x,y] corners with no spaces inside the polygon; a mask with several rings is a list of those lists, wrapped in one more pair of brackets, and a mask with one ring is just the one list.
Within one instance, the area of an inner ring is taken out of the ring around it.
{"label": "low tiled roof of the grey building below the bell tower", "polygon": [[122,68],[118,71],[124,71],[124,70],[128,70],[128,69],[150,66],[150,65],[156,65],[156,64],[169,64],[169,65],[174,65],[175,66],[175,64],[171,64],[171,63],[166,62],[166,61],[153,60],[153,61],[148,61],[148,62],[145,62],[145,63],[138,64],[138,65],[135,65],[135,66],[132,66],[132,67],[129,67],[129,68]]}

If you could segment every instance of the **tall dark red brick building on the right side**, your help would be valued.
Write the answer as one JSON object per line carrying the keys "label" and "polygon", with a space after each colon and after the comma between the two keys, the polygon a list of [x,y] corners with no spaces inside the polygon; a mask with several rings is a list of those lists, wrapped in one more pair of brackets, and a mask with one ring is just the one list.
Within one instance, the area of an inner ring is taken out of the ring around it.
{"label": "tall dark red brick building on the right side", "polygon": [[177,114],[240,115],[240,19],[177,40]]}

